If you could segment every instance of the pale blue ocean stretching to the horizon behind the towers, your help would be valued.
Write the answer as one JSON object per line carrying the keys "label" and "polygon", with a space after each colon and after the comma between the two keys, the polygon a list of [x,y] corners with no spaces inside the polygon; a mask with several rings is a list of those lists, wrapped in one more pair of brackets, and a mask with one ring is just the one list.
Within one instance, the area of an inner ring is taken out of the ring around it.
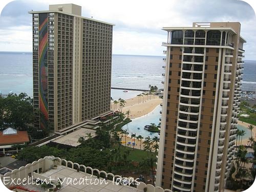
{"label": "pale blue ocean stretching to the horizon behind the towers", "polygon": [[[112,87],[148,89],[148,84],[163,88],[161,81],[165,65],[163,56],[113,55]],[[25,92],[33,95],[32,53],[0,52],[0,91]],[[245,60],[242,90],[256,91],[256,61]],[[123,99],[134,97],[140,91],[112,90],[112,97]]]}

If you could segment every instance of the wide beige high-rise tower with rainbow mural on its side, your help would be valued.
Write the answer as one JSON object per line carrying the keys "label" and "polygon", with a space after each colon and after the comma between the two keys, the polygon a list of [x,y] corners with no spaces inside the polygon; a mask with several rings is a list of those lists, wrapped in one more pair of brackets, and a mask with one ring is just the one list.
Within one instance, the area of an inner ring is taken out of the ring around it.
{"label": "wide beige high-rise tower with rainbow mural on its side", "polygon": [[34,126],[67,130],[110,111],[113,24],[81,16],[74,4],[30,11]]}

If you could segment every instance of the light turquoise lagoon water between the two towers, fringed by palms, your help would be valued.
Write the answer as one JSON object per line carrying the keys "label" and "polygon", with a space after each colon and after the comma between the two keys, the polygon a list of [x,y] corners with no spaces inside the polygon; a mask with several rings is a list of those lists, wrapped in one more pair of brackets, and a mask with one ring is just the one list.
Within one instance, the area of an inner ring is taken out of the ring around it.
{"label": "light turquoise lagoon water between the two towers, fringed by palms", "polygon": [[[150,136],[151,138],[158,136],[158,133],[152,133],[144,130],[144,126],[150,125],[150,123],[158,125],[160,122],[159,118],[161,117],[161,114],[159,113],[161,109],[162,107],[160,105],[156,106],[156,108],[147,115],[132,119],[132,122],[127,123],[122,127],[122,130],[127,130],[130,136],[132,134],[136,134],[136,136],[141,135],[144,138],[147,136]],[[140,129],[138,129],[138,127]]]}

